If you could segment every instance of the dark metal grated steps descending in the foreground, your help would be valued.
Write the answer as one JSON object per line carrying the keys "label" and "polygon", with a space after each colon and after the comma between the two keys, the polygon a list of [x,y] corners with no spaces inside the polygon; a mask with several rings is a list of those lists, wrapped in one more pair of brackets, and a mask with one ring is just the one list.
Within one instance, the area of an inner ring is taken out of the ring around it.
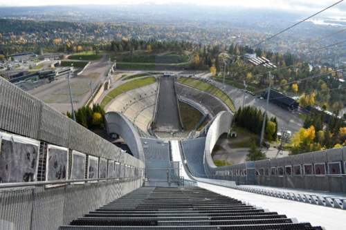
{"label": "dark metal grated steps descending in the foreground", "polygon": [[322,230],[197,187],[142,187],[60,227],[73,229]]}

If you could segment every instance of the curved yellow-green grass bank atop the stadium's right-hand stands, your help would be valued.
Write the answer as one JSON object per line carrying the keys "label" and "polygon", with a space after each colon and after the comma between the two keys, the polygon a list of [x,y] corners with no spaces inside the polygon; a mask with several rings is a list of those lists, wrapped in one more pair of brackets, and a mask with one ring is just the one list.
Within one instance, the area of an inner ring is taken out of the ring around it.
{"label": "curved yellow-green grass bank atop the stadium's right-hand stands", "polygon": [[228,108],[230,108],[230,111],[235,112],[235,105],[233,104],[232,99],[230,99],[230,97],[228,97],[228,95],[226,95],[224,91],[220,90],[219,88],[216,88],[215,86],[212,86],[212,84],[188,77],[179,78],[179,82],[192,88],[197,88],[199,90],[206,91],[214,95],[215,97],[218,97],[223,102],[225,102]]}

